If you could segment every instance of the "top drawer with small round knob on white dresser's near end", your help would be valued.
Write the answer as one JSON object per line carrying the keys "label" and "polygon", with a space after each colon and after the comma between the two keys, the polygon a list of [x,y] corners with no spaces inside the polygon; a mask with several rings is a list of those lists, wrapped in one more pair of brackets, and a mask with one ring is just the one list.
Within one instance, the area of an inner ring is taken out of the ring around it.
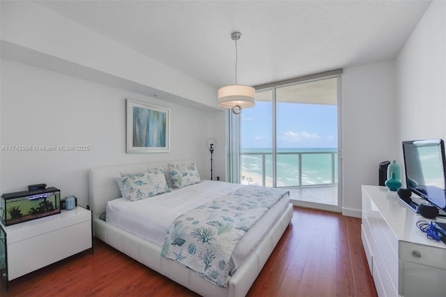
{"label": "top drawer with small round knob on white dresser's near end", "polygon": [[401,241],[399,259],[446,270],[446,249]]}

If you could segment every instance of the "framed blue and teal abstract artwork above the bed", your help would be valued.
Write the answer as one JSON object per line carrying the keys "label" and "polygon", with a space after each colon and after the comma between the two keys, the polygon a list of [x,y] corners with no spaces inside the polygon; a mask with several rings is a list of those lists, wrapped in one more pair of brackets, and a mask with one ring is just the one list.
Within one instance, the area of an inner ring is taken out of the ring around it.
{"label": "framed blue and teal abstract artwork above the bed", "polygon": [[170,109],[127,99],[127,153],[169,151]]}

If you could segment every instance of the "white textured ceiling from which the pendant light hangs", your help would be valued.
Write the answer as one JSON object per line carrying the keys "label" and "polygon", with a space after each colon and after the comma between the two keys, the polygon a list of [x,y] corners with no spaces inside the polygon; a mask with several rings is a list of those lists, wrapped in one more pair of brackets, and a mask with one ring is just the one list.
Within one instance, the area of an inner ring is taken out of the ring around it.
{"label": "white textured ceiling from which the pendant light hangs", "polygon": [[394,59],[431,1],[36,1],[216,88]]}

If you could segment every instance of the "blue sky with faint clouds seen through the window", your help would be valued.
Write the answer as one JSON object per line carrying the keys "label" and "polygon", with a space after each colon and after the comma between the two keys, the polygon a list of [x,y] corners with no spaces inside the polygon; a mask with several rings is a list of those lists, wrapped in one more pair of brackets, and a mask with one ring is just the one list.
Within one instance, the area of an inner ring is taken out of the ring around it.
{"label": "blue sky with faint clouds seen through the window", "polygon": [[[271,148],[271,102],[243,109],[242,148]],[[336,148],[337,106],[280,102],[277,105],[277,148]]]}

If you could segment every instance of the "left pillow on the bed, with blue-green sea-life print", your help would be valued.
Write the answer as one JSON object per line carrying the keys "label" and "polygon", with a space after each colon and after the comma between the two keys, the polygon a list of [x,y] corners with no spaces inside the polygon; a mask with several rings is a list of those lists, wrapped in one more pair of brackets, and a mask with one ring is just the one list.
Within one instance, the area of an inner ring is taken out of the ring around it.
{"label": "left pillow on the bed, with blue-green sea-life print", "polygon": [[123,197],[130,201],[137,201],[164,192],[170,192],[162,168],[151,168],[145,172],[124,173]]}

